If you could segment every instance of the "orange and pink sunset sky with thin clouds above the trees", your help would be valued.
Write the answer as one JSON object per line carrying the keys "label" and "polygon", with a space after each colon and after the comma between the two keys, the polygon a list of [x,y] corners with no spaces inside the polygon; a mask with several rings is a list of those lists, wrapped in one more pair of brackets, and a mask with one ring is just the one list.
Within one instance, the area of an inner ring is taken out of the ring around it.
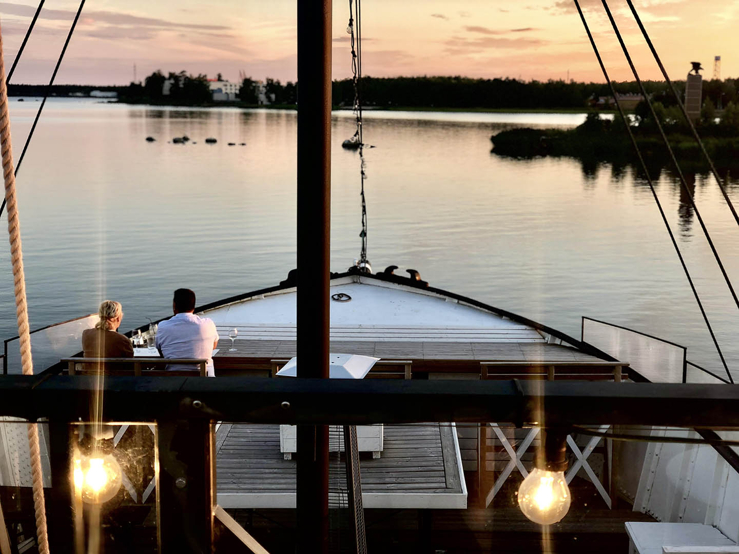
{"label": "orange and pink sunset sky with thin clouds above the trees", "polygon": [[[701,61],[739,76],[739,1],[634,0],[672,78]],[[348,0],[333,4],[333,77],[350,72]],[[9,67],[36,2],[0,2]],[[612,78],[628,66],[600,0],[582,0]],[[625,0],[609,5],[642,78],[658,78]],[[13,81],[48,81],[78,1],[47,0]],[[364,74],[602,81],[571,0],[364,0]],[[155,69],[296,78],[295,0],[88,0],[57,83],[123,84]]]}

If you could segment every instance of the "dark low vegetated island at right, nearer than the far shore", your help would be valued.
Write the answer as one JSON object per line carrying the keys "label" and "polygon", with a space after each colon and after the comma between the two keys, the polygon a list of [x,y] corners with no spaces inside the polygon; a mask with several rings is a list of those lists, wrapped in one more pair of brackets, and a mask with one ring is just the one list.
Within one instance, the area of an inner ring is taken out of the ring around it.
{"label": "dark low vegetated island at right, nearer than the far shore", "polygon": [[[678,106],[665,108],[658,102],[653,107],[681,168],[705,171],[706,161],[681,109]],[[627,119],[647,168],[671,168],[669,151],[647,104],[639,103]],[[695,128],[717,168],[722,171],[739,169],[739,103],[731,102],[717,114],[710,100],[705,100]],[[573,157],[584,165],[638,163],[626,123],[619,114],[608,119],[599,112],[589,112],[585,123],[575,129],[508,129],[494,134],[491,141],[494,154],[514,158]]]}

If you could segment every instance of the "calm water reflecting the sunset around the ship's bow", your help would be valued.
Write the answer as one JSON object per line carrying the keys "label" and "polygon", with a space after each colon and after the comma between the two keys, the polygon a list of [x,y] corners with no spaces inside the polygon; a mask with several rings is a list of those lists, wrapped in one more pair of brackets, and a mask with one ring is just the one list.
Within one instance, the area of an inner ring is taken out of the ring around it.
{"label": "calm water reflecting the sunset around the ship's bow", "polygon": [[[38,103],[11,104],[16,157]],[[688,346],[723,371],[647,185],[630,169],[571,159],[511,160],[490,135],[511,126],[574,126],[582,114],[368,112],[364,129],[369,259],[412,267],[436,287],[579,337],[580,317]],[[197,144],[168,143],[187,134]],[[333,120],[332,270],[358,256],[358,157]],[[151,135],[155,143],[146,143]],[[205,137],[217,137],[214,146]],[[228,142],[247,146],[227,146]],[[277,284],[296,265],[296,114],[170,109],[56,99],[18,174],[33,329],[115,298],[122,329],[171,310]],[[670,175],[658,194],[730,365],[739,313]],[[739,203],[739,182],[730,194]],[[695,198],[739,279],[739,229],[715,182]],[[5,221],[5,217],[3,216]],[[5,224],[3,224],[5,225]],[[8,247],[1,249],[0,336],[16,334]],[[735,373],[739,376],[739,371]]]}

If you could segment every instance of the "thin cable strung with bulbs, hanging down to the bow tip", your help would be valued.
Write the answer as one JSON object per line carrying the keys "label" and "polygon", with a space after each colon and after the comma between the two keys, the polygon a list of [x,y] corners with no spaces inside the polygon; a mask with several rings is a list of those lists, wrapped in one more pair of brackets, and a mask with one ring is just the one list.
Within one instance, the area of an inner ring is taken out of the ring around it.
{"label": "thin cable strung with bulbs, hanging down to the bow tip", "polygon": [[[367,202],[364,196],[364,179],[367,179],[365,173],[364,163],[364,139],[362,137],[362,103],[359,92],[360,81],[362,78],[362,41],[361,41],[361,0],[349,0],[349,25],[347,26],[347,32],[351,35],[350,44],[352,49],[352,84],[354,86],[354,103],[353,112],[355,114],[355,121],[357,125],[354,136],[351,140],[358,145],[359,150],[359,174],[360,174],[360,192],[362,205],[362,230],[359,236],[362,239],[361,253],[359,255],[359,261],[357,267],[361,270],[371,273],[372,269],[369,267],[369,261],[367,261]],[[354,13],[353,11],[354,10]],[[356,27],[356,41],[354,29]]]}

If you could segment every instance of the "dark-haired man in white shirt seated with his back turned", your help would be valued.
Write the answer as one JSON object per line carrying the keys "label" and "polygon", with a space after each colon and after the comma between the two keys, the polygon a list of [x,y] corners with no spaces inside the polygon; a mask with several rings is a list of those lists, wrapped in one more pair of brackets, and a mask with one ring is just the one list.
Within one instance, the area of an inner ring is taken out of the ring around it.
{"label": "dark-haired man in white shirt seated with his back turned", "polygon": [[[205,358],[208,377],[215,377],[212,353],[218,344],[216,324],[210,318],[195,315],[195,293],[190,289],[174,291],[174,315],[159,324],[156,346],[163,358]],[[167,369],[195,369],[183,363],[171,363]]]}

